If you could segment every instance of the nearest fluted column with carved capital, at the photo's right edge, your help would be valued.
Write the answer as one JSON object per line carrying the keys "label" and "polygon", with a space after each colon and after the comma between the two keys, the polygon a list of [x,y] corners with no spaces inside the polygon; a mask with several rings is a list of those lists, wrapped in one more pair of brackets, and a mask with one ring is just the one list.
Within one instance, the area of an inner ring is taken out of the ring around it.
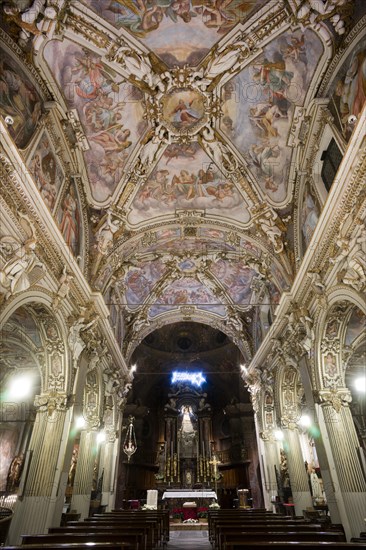
{"label": "nearest fluted column with carved capital, at the photo's right edge", "polygon": [[349,540],[351,537],[359,537],[360,532],[365,530],[366,506],[366,480],[357,454],[359,442],[352,414],[345,400],[346,393],[349,392],[319,393],[323,401],[321,409],[338,482],[335,494],[338,499],[343,500],[344,506],[340,514]]}

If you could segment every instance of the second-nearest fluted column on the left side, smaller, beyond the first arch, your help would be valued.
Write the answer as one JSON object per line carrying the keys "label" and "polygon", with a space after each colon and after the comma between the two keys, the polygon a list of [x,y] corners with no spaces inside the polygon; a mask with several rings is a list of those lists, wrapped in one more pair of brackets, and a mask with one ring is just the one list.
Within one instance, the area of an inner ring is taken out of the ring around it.
{"label": "second-nearest fluted column on the left side, smaller, beyond the first arch", "polygon": [[90,496],[93,487],[93,470],[97,457],[96,429],[82,430],[80,434],[78,463],[76,466],[71,510],[81,514],[81,519],[89,516]]}

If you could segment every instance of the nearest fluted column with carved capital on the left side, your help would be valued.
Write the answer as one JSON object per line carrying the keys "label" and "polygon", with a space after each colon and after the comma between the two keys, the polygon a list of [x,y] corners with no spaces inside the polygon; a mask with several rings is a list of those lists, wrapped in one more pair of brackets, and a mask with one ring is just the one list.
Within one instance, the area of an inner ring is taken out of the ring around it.
{"label": "nearest fluted column with carved capital on the left side", "polygon": [[29,462],[21,480],[24,491],[15,507],[9,545],[20,544],[23,533],[47,533],[55,521],[60,524],[62,508],[55,518],[55,507],[63,499],[60,477],[67,441],[62,434],[70,421],[66,404],[66,395],[56,392],[36,397],[38,410],[27,454]]}

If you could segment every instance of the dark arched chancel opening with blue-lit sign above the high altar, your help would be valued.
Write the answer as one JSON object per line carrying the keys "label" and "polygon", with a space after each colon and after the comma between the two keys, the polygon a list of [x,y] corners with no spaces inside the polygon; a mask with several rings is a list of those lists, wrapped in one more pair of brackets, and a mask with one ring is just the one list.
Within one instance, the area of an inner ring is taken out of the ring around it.
{"label": "dark arched chancel opening with blue-lit sign above the high altar", "polygon": [[154,487],[160,497],[168,488],[216,488],[227,507],[245,488],[260,504],[254,412],[242,362],[223,332],[190,321],[161,327],[137,346],[124,424],[134,417],[138,449],[129,462],[122,453],[121,503],[143,500]]}

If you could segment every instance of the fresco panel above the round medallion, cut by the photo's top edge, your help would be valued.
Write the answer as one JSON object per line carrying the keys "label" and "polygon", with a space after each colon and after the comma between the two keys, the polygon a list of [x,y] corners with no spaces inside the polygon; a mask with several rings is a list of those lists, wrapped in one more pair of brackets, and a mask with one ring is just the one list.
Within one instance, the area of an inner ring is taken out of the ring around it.
{"label": "fresco panel above the round medallion, cut by the photo's top edge", "polygon": [[168,67],[197,66],[210,48],[266,0],[89,0],[84,4],[124,28]]}

